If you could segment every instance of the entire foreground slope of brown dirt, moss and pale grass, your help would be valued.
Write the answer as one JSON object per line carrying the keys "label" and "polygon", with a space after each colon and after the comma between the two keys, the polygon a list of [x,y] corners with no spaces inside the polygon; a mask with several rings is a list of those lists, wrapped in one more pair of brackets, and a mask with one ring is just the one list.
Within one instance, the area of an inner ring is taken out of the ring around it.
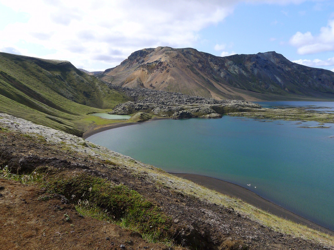
{"label": "entire foreground slope of brown dirt, moss and pale grass", "polygon": [[0,118],[1,249],[334,249],[333,236],[267,207],[76,136]]}

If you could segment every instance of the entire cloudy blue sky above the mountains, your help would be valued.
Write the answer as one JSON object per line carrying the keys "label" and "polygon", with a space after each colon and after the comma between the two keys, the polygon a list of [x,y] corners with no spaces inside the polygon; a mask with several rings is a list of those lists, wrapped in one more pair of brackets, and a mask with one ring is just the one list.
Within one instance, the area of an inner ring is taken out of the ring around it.
{"label": "entire cloudy blue sky above the mountains", "polygon": [[143,48],[276,51],[334,71],[333,0],[0,0],[0,51],[104,71]]}

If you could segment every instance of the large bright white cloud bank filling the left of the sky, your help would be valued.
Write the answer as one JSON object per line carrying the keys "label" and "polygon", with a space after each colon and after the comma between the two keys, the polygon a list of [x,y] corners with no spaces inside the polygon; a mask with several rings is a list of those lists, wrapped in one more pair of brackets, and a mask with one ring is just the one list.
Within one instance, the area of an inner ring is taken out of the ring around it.
{"label": "large bright white cloud bank filling the left of the sky", "polygon": [[[90,71],[105,70],[142,48],[196,47],[199,31],[223,21],[239,2],[287,5],[303,1],[0,0],[29,17],[25,23],[12,22],[0,30],[0,48],[69,60]],[[222,45],[217,44],[217,49],[226,49]]]}

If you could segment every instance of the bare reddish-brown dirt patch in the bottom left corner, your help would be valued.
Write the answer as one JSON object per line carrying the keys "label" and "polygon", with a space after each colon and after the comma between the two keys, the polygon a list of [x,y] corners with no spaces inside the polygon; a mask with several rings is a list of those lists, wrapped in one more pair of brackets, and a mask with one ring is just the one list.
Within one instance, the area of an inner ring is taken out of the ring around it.
{"label": "bare reddish-brown dirt patch in the bottom left corner", "polygon": [[[1,249],[167,249],[138,233],[80,216],[73,205],[34,186],[0,179]],[[64,214],[70,218],[65,220]]]}

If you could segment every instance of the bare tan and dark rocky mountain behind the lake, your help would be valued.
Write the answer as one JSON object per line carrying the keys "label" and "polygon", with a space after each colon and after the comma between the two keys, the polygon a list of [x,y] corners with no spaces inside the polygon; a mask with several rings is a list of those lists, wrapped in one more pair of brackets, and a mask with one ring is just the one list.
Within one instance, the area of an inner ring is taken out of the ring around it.
{"label": "bare tan and dark rocky mountain behind the lake", "polygon": [[193,48],[147,48],[97,77],[119,86],[216,99],[334,98],[334,72],[292,63],[275,51],[219,57]]}

